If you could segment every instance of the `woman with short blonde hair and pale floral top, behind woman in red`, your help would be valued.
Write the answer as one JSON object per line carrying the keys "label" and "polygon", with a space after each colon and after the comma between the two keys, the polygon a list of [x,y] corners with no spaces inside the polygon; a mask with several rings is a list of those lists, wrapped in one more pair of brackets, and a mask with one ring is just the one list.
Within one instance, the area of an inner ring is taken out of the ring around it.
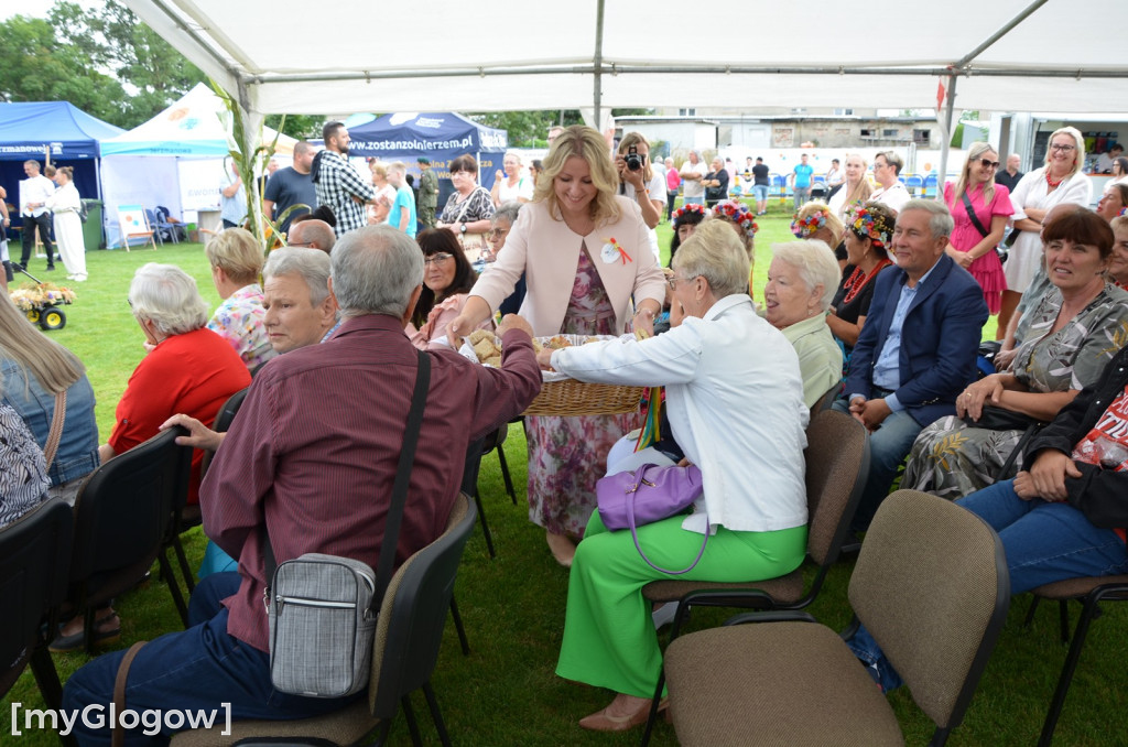
{"label": "woman with short blonde hair and pale floral top, behind woman in red", "polygon": [[204,247],[212,266],[212,282],[223,302],[208,328],[230,343],[250,371],[276,354],[266,336],[263,289],[258,274],[263,252],[255,237],[241,228],[228,228]]}

